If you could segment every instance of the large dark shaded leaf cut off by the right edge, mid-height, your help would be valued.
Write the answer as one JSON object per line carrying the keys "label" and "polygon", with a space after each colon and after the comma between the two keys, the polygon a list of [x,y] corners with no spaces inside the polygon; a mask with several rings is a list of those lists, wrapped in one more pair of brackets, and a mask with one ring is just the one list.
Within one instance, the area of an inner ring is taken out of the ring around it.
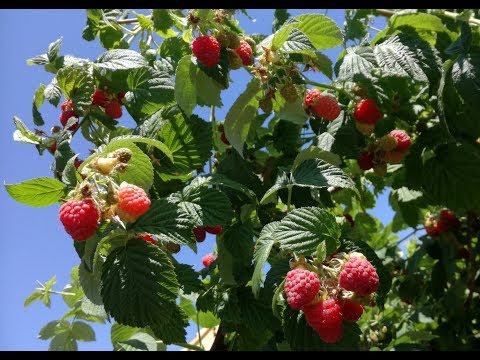
{"label": "large dark shaded leaf cut off by the right edge, mid-height", "polygon": [[473,145],[448,144],[427,160],[423,171],[423,190],[438,204],[454,212],[478,209],[480,193],[480,152]]}

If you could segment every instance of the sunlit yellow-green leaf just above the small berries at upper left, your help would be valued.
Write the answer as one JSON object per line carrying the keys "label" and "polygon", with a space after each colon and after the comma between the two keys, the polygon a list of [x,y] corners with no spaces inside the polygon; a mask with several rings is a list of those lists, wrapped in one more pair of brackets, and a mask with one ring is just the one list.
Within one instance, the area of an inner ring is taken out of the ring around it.
{"label": "sunlit yellow-green leaf just above the small berries at upper left", "polygon": [[72,100],[75,111],[84,115],[92,104],[95,81],[91,71],[78,67],[63,67],[57,72],[57,82],[63,93]]}

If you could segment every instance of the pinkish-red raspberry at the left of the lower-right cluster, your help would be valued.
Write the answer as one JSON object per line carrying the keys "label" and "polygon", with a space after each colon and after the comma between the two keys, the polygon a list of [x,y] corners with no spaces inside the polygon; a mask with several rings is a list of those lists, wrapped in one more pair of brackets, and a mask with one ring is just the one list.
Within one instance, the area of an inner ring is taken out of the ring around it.
{"label": "pinkish-red raspberry at the left of the lower-right cluster", "polygon": [[285,278],[285,294],[287,303],[292,309],[301,309],[312,302],[320,290],[317,274],[305,269],[293,269]]}

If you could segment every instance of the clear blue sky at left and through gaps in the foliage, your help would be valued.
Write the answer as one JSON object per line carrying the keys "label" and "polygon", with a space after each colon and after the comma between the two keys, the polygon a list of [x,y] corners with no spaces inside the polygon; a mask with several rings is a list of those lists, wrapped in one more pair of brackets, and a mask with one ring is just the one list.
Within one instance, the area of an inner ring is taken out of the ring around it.
{"label": "clear blue sky at left and through gaps in the foliage", "polygon": [[[292,15],[324,10],[290,10]],[[249,14],[255,22],[239,16],[246,33],[271,32],[272,10],[252,10]],[[343,24],[342,10],[329,10],[328,16]],[[84,10],[0,10],[0,34],[2,56],[0,57],[0,181],[17,183],[34,177],[51,177],[52,156],[44,153],[38,156],[34,146],[13,141],[13,116],[17,115],[33,128],[32,97],[40,83],[48,84],[53,74],[40,66],[27,66],[26,60],[46,51],[48,45],[63,36],[61,54],[72,54],[82,58],[96,59],[104,50],[99,41],[87,42],[82,39],[86,21]],[[375,26],[383,28],[384,20]],[[325,51],[336,59],[340,47]],[[233,99],[245,88],[248,74],[245,70],[232,72],[233,84],[223,94],[224,108],[216,112],[223,120]],[[323,80],[321,77],[315,80]],[[40,108],[49,132],[50,127],[59,125],[59,109],[45,103]],[[195,109],[195,113],[207,118],[206,109]],[[120,119],[126,126],[133,125],[128,114]],[[75,139],[73,148],[80,152],[80,158],[88,154],[88,144]],[[378,206],[371,213],[388,223],[393,213],[388,207],[388,194],[378,200]],[[51,320],[59,319],[67,310],[63,301],[52,296],[52,307],[47,309],[40,302],[23,307],[25,298],[37,286],[36,280],[45,282],[57,275],[55,290],[62,290],[69,282],[70,270],[78,265],[78,257],[72,247],[71,238],[65,233],[58,220],[59,205],[32,208],[15,202],[0,187],[0,283],[3,287],[0,306],[0,350],[46,350],[49,341],[37,339],[38,331]],[[198,255],[182,250],[178,259],[202,267],[201,258],[211,252],[214,238],[199,244]],[[80,350],[110,350],[110,326],[94,325],[96,342],[79,343]],[[195,335],[190,327],[187,338]]]}

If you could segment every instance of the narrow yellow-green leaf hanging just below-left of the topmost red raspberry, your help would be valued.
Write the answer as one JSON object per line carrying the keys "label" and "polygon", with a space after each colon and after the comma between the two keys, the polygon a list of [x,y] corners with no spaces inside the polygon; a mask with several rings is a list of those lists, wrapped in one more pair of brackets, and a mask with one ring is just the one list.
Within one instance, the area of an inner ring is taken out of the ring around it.
{"label": "narrow yellow-green leaf hanging just below-left of the topmost red raspberry", "polygon": [[197,105],[197,67],[190,55],[180,59],[175,71],[175,101],[187,116]]}

